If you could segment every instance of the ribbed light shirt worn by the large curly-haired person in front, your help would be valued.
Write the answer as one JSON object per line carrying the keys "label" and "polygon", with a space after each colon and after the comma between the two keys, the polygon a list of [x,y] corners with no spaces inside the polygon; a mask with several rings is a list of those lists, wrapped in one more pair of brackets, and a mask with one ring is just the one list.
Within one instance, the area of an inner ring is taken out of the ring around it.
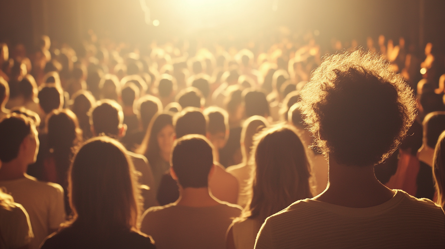
{"label": "ribbed light shirt worn by the large curly-haired person in front", "polygon": [[428,199],[394,190],[391,200],[348,208],[305,199],[268,217],[255,249],[445,248],[445,214]]}

